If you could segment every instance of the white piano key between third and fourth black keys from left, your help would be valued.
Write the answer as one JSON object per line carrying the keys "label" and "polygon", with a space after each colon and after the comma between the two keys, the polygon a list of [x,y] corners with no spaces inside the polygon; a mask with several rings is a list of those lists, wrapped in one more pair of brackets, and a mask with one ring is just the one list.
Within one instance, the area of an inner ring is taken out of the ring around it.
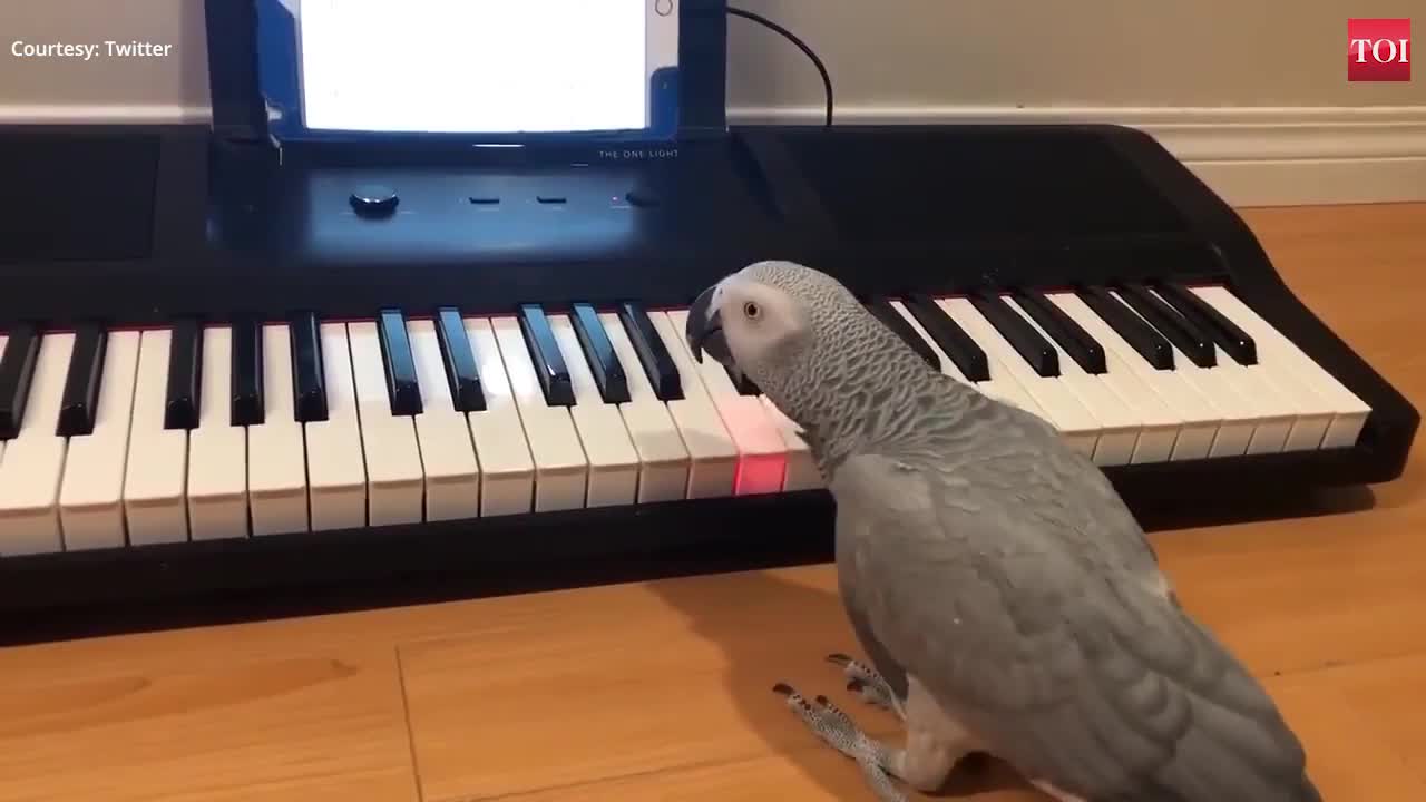
{"label": "white piano key between third and fourth black keys from left", "polygon": [[200,539],[248,535],[248,437],[232,425],[234,330],[202,330],[198,427],[188,432],[188,527]]}

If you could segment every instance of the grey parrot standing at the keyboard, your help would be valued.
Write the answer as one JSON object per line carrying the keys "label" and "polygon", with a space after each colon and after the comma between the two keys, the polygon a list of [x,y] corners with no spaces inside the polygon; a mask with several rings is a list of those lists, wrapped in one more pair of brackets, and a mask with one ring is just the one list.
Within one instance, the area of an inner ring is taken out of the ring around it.
{"label": "grey parrot standing at the keyboard", "polygon": [[801,428],[836,502],[838,592],[870,665],[829,659],[906,742],[774,689],[880,799],[937,791],[983,752],[1061,802],[1320,801],[1273,701],[1038,415],[931,368],[796,263],[709,287],[684,335]]}

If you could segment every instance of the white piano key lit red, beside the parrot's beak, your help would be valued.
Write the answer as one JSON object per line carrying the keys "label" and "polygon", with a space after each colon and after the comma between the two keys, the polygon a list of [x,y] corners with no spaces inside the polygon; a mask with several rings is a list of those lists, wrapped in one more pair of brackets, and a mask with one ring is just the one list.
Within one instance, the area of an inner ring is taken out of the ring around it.
{"label": "white piano key lit red, beside the parrot's beak", "polygon": [[[687,310],[667,313],[676,331],[684,331]],[[753,395],[742,395],[717,360],[696,362],[699,378],[713,401],[723,425],[739,451],[734,495],[779,492],[787,474],[787,445],[777,425],[767,415],[763,402]]]}

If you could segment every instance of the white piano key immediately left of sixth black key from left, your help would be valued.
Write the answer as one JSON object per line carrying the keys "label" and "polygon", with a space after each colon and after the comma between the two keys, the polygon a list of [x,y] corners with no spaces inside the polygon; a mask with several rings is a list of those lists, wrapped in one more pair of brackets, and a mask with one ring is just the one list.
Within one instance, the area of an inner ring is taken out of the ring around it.
{"label": "white piano key immediately left of sixth black key from left", "polygon": [[[399,320],[399,315],[398,315]],[[405,342],[405,324],[399,341]],[[391,385],[378,324],[347,324],[352,355],[352,387],[356,390],[356,422],[361,427],[362,461],[366,465],[366,519],[372,527],[419,524],[425,499],[421,447],[411,415],[392,410]],[[409,355],[409,350],[406,351]],[[416,381],[409,361],[406,374]],[[418,398],[419,401],[419,398]]]}

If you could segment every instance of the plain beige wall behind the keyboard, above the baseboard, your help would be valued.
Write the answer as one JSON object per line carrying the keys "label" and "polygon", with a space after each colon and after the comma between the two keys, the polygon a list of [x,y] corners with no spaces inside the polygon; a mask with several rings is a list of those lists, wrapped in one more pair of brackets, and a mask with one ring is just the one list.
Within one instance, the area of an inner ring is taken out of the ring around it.
{"label": "plain beige wall behind the keyboard, above the baseboard", "polygon": [[[231,0],[228,0],[231,1]],[[593,0],[592,0],[593,1]],[[838,106],[1426,106],[1410,84],[1348,84],[1346,17],[1420,0],[736,0],[827,60]],[[730,21],[729,104],[816,106],[803,54]],[[0,113],[208,103],[202,0],[0,0]],[[20,60],[10,41],[173,43],[168,59]]]}

